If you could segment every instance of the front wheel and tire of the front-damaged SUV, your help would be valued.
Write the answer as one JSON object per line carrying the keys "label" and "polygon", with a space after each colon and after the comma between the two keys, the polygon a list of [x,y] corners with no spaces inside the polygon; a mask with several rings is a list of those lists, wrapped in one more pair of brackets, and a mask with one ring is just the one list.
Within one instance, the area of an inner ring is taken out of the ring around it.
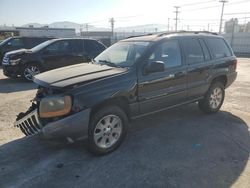
{"label": "front wheel and tire of the front-damaged SUV", "polygon": [[88,149],[95,155],[105,155],[117,149],[128,130],[128,117],[118,106],[106,106],[90,119]]}

